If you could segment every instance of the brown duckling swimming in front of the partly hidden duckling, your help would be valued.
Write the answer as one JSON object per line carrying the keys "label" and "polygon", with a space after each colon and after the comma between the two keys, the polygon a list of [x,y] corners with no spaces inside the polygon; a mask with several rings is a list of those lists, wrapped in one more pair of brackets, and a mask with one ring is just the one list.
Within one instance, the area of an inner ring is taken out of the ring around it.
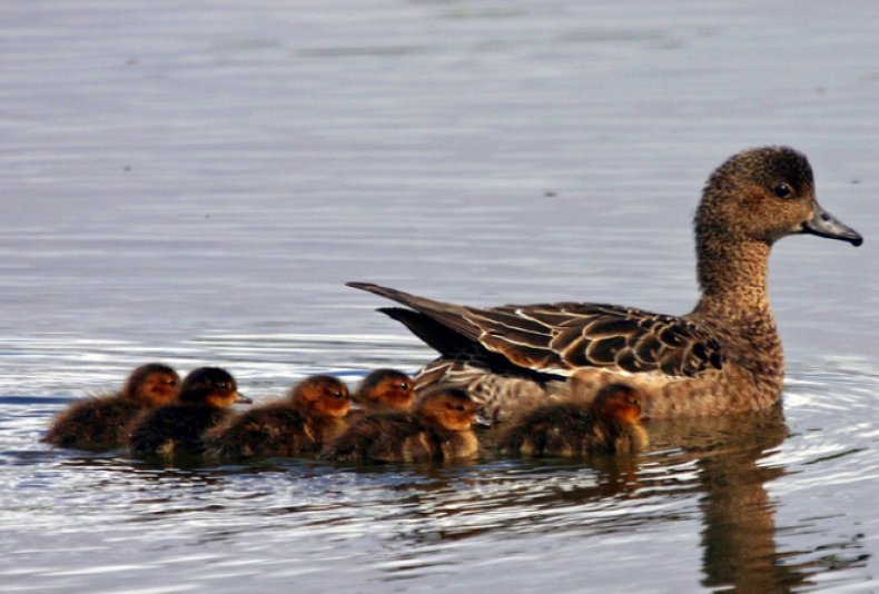
{"label": "brown duckling swimming in front of the partly hidden duckling", "polygon": [[412,413],[384,410],[354,422],[322,454],[343,462],[451,462],[474,458],[476,403],[461,388],[432,386]]}

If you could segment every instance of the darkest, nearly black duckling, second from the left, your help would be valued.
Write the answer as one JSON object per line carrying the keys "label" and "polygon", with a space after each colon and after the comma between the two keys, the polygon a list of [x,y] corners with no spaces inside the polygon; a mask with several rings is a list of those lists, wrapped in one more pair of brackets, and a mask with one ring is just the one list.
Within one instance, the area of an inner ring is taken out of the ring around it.
{"label": "darkest, nearly black duckling, second from the left", "polygon": [[220,367],[199,367],[180,385],[179,402],[142,415],[130,430],[136,457],[196,456],[205,453],[204,434],[223,423],[236,403],[253,400],[238,392],[235,378]]}

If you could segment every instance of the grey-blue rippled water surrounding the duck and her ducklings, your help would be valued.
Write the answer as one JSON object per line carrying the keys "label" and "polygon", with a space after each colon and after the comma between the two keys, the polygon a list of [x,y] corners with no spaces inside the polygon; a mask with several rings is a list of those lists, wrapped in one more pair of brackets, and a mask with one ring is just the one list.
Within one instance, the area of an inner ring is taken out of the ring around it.
{"label": "grey-blue rippled water surrounding the duck and her ducklings", "polygon": [[[684,313],[701,186],[766,143],[867,239],[774,250],[783,414],[592,463],[39,443],[147,360],[263,399],[432,357],[346,280]],[[878,161],[873,2],[3,2],[0,590],[879,590]]]}

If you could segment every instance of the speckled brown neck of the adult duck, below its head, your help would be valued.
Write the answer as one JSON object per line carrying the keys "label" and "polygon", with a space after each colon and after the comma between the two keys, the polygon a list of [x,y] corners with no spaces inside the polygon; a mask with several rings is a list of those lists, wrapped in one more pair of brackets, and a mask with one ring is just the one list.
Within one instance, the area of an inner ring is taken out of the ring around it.
{"label": "speckled brown neck of the adult duck, below its head", "polygon": [[767,294],[770,246],[760,242],[705,242],[699,246],[697,274],[702,297],[694,315],[771,326]]}

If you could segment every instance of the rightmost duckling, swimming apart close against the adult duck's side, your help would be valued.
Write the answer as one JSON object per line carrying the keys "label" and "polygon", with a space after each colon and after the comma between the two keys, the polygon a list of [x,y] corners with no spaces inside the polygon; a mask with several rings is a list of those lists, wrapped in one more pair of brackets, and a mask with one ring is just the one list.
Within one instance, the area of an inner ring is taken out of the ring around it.
{"label": "rightmost duckling, swimming apart close against the adult duck's side", "polygon": [[589,405],[549,403],[511,423],[497,440],[503,453],[570,457],[592,452],[628,454],[649,445],[640,425],[641,396],[619,383],[602,387]]}

